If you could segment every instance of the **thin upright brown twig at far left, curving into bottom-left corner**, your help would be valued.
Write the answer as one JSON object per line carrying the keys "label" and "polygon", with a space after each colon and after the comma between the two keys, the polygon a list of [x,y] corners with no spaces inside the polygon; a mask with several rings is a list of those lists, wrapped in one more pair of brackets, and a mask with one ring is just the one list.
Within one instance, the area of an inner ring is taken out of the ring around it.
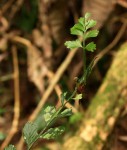
{"label": "thin upright brown twig at far left, curving into bottom-left corner", "polygon": [[19,67],[16,47],[12,47],[12,55],[14,65],[14,119],[10,132],[1,146],[1,150],[3,150],[9,144],[12,137],[17,132],[20,117]]}

